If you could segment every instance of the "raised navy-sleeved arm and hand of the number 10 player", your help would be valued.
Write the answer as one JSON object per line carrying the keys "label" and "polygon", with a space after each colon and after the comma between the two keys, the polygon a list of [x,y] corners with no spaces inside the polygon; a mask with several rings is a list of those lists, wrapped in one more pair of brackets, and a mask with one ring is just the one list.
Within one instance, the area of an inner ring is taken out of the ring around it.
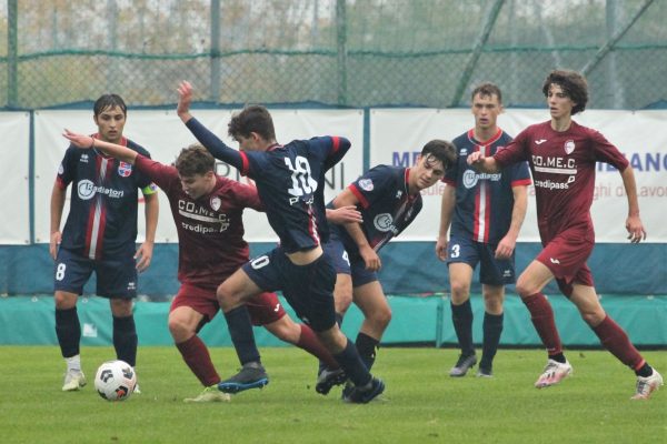
{"label": "raised navy-sleeved arm and hand of the number 10 player", "polygon": [[176,108],[178,117],[213,158],[227,162],[243,172],[243,158],[241,154],[237,150],[227,147],[216,134],[192,117],[190,113],[191,103],[192,85],[187,80],[183,80],[178,87],[178,105]]}

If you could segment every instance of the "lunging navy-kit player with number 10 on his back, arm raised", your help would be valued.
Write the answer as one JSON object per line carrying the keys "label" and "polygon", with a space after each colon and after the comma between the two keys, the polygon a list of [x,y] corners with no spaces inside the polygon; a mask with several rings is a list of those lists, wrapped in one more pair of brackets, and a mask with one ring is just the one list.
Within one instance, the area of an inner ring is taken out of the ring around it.
{"label": "lunging navy-kit player with number 10 on his back, arm raised", "polygon": [[345,155],[349,141],[322,137],[279,145],[270,113],[263,107],[250,105],[229,122],[229,134],[240,145],[237,151],[190,114],[190,83],[181,82],[178,91],[177,113],[182,122],[215,158],[255,180],[269,223],[280,239],[280,246],[246,263],[218,287],[218,301],[243,363],[241,371],[222,381],[219,389],[236,392],[266,379],[248,313],[242,307],[246,300],[261,291],[281,289],[297,315],[317,333],[355,383],[346,401],[371,401],[382,393],[385,384],[372,377],[355,345],[336,324],[332,296],[336,273],[320,241],[328,238],[323,174]]}

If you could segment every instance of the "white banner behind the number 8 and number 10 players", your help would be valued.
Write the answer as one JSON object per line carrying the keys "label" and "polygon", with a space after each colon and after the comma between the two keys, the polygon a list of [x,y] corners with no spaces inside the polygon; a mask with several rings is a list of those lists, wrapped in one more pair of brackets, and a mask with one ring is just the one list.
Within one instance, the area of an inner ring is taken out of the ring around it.
{"label": "white banner behind the number 8 and number 10 players", "polygon": [[[309,139],[316,135],[342,135],[348,138],[352,148],[345,159],[327,174],[327,199],[332,199],[342,188],[362,172],[364,167],[364,112],[360,110],[270,110],[278,142],[287,143],[295,139]],[[225,143],[237,147],[227,135],[227,124],[231,110],[193,110],[192,114],[207,128],[213,131]],[[63,128],[72,131],[93,133],[97,127],[92,120],[92,111],[37,111],[34,113],[36,145],[36,186],[34,186],[34,229],[36,242],[49,242],[49,202],[58,165],[62,160],[68,141],[62,138]],[[128,121],[123,133],[129,139],[146,148],[152,159],[162,163],[171,163],[181,148],[197,142],[183,125],[175,111],[136,111],[128,112]],[[26,147],[28,144],[26,143]],[[237,170],[219,162],[217,172],[220,175],[246,181]],[[157,242],[177,242],[177,232],[171,218],[169,202],[160,194],[160,218],[158,222]],[[69,211],[69,196],[66,202],[61,228]],[[143,239],[143,206],[139,209],[139,241]],[[277,241],[265,214],[248,210],[243,214],[246,240],[252,242]]]}

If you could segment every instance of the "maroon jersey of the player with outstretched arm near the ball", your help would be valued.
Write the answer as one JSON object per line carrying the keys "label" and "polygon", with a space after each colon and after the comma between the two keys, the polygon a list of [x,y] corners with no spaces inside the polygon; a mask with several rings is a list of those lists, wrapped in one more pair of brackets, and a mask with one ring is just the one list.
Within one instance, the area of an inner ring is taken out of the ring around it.
{"label": "maroon jersey of the player with outstretched arm near the ball", "polygon": [[263,211],[253,186],[218,176],[213,191],[195,200],[183,191],[176,168],[143,155],[137,155],[136,165],[169,199],[178,231],[178,280],[182,284],[216,289],[248,261],[243,209]]}

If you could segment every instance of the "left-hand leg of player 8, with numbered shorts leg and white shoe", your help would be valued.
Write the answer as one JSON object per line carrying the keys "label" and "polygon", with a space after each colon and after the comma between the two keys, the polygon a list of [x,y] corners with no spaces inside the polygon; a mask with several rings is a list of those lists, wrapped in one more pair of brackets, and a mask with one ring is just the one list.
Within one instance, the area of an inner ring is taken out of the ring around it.
{"label": "left-hand leg of player 8, with numbered shorts leg and white shoe", "polygon": [[77,313],[77,301],[91,273],[90,261],[66,249],[58,251],[53,275],[53,301],[56,335],[67,364],[63,392],[77,391],[86,385],[86,376],[81,371],[81,324]]}

